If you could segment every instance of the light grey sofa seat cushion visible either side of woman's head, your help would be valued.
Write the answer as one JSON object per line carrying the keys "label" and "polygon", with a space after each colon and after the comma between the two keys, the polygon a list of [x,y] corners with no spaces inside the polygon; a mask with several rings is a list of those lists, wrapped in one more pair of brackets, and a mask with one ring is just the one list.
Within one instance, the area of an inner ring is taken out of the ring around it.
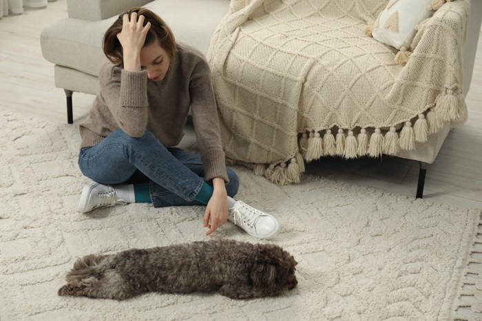
{"label": "light grey sofa seat cushion visible either side of woman's head", "polygon": [[[156,0],[144,7],[166,21],[177,41],[193,45],[207,54],[211,35],[229,10],[229,1]],[[115,19],[117,16],[101,21],[72,18],[56,21],[41,34],[43,57],[56,65],[98,76],[107,59],[102,52],[102,39]]]}

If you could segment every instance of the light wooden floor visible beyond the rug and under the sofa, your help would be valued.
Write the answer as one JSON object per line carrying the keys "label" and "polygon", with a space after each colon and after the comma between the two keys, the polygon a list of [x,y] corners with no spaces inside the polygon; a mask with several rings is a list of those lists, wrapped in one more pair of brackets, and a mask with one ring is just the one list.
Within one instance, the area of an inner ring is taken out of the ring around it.
{"label": "light wooden floor visible beyond the rug and under the sofa", "polygon": [[[54,67],[43,59],[43,27],[67,16],[66,0],[0,19],[0,109],[66,122],[63,89],[54,87]],[[482,37],[467,96],[469,120],[454,129],[428,168],[424,199],[482,209]],[[93,96],[74,93],[74,121],[85,118]],[[189,141],[190,140],[190,141]],[[187,135],[186,144],[193,142]],[[322,159],[308,173],[335,181],[415,196],[417,162],[383,159]]]}

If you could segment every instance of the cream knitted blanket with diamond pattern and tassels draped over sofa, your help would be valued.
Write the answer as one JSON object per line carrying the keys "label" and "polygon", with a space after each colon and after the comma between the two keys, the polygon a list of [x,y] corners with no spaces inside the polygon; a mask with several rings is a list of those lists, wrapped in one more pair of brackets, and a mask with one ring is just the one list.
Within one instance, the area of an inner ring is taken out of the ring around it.
{"label": "cream knitted blanket with diamond pattern and tassels draped over sofa", "polygon": [[468,0],[445,3],[406,64],[366,36],[380,0],[231,0],[208,60],[227,157],[277,184],[307,162],[397,155],[467,118]]}

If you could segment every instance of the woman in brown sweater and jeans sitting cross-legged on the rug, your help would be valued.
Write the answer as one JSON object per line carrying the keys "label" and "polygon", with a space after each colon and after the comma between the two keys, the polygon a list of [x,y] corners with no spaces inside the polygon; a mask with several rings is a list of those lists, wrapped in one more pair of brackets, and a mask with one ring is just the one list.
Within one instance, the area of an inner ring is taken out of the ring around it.
{"label": "woman in brown sweater and jeans sitting cross-legged on the rug", "polygon": [[[232,197],[239,181],[226,168],[209,66],[202,54],[176,44],[165,22],[145,8],[121,14],[103,39],[109,63],[101,93],[80,125],[78,165],[92,179],[80,212],[131,202],[154,207],[206,205],[207,235],[227,220],[252,236],[272,238],[270,214]],[[176,146],[189,109],[200,156]]]}

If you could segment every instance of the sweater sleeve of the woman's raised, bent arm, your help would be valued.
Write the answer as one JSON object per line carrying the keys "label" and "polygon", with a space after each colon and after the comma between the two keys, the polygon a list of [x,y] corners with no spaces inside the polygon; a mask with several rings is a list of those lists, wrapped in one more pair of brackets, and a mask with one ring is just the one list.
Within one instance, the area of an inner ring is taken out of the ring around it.
{"label": "sweater sleeve of the woman's raised, bent arm", "polygon": [[140,137],[147,128],[147,71],[112,66],[99,76],[101,93],[114,120],[127,135]]}

